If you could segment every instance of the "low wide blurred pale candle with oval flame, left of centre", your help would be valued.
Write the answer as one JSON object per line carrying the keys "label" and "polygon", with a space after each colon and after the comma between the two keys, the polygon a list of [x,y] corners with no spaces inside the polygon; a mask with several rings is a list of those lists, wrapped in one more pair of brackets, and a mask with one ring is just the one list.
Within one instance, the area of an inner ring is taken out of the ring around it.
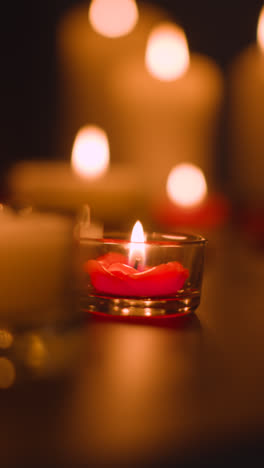
{"label": "low wide blurred pale candle with oval flame, left of centre", "polygon": [[110,225],[125,221],[128,213],[144,211],[140,174],[128,165],[110,165],[109,151],[102,129],[83,127],[73,144],[71,164],[17,164],[8,179],[10,197],[16,203],[73,213],[88,204],[99,221]]}

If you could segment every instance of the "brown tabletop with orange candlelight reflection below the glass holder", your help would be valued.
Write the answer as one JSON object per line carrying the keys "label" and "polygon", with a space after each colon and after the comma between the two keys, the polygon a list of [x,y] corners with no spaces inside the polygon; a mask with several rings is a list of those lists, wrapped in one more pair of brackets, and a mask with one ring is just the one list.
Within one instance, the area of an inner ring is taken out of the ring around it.
{"label": "brown tabletop with orange candlelight reflection below the glass holder", "polygon": [[51,377],[16,382],[2,331],[3,466],[166,466],[261,439],[263,278],[263,251],[227,235],[209,255],[197,314],[164,327],[87,320],[78,359]]}

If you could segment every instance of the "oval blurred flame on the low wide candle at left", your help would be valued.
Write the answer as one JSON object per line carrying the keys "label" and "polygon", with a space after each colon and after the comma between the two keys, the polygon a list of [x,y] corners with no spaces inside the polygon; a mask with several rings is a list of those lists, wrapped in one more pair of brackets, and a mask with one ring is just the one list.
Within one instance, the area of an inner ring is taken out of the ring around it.
{"label": "oval blurred flame on the low wide candle at left", "polygon": [[72,149],[74,171],[87,178],[100,177],[109,165],[109,144],[106,133],[98,127],[79,130]]}

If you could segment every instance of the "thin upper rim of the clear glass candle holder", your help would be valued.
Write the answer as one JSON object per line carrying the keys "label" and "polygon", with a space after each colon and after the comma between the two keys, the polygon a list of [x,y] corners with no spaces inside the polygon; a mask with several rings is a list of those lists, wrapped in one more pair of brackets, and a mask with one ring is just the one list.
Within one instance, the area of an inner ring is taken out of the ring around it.
{"label": "thin upper rim of the clear glass candle holder", "polygon": [[[105,232],[104,237],[82,237],[80,240],[87,243],[98,244],[127,244],[130,243],[130,233],[126,232]],[[141,243],[141,242],[139,242]],[[145,233],[146,245],[164,245],[164,246],[185,246],[185,245],[206,245],[208,240],[199,234],[190,234],[184,232],[174,233]]]}

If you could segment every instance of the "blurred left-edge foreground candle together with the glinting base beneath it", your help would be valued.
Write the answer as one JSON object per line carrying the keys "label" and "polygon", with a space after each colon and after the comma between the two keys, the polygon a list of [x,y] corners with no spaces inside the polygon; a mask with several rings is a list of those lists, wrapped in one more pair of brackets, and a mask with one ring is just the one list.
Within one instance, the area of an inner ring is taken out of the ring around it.
{"label": "blurred left-edge foreground candle together with the glinting base beneath it", "polygon": [[0,219],[0,387],[71,373],[82,348],[72,220],[11,209]]}

